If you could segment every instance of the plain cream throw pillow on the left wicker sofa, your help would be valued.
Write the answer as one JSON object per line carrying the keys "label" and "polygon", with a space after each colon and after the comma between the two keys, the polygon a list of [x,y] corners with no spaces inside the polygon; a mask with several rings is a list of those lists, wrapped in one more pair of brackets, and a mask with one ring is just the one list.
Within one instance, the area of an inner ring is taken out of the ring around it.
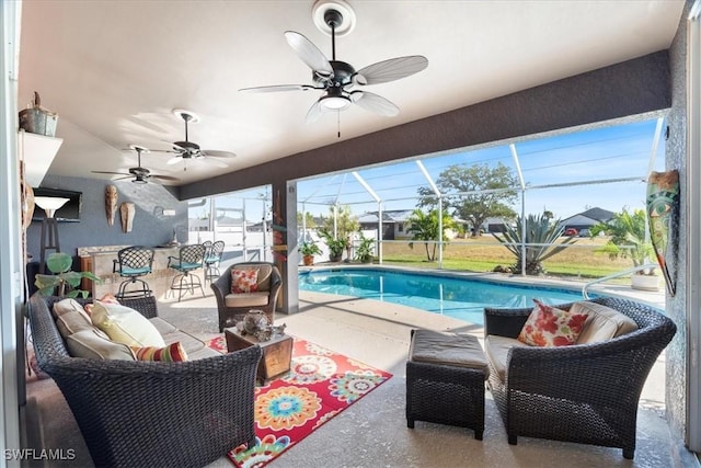
{"label": "plain cream throw pillow on the left wicker sofa", "polygon": [[153,323],[129,307],[96,300],[90,317],[92,323],[107,333],[112,341],[138,347],[165,346]]}

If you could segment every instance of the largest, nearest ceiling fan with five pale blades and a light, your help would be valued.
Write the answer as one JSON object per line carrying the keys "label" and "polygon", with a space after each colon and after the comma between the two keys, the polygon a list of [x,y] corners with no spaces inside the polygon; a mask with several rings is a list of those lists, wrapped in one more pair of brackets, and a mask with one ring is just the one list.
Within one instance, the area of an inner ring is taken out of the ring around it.
{"label": "largest, nearest ceiling fan with five pale blades and a light", "polygon": [[[354,90],[354,88],[406,78],[425,69],[428,66],[428,59],[421,55],[397,57],[378,61],[356,71],[350,64],[336,60],[336,31],[341,26],[344,26],[346,32],[349,31],[347,21],[344,23],[344,13],[349,16],[348,21],[353,22],[355,15],[350,7],[341,0],[318,2],[318,5],[323,9],[320,13],[317,8],[314,9],[318,26],[327,26],[331,30],[331,60],[303,35],[294,31],[285,32],[285,38],[289,46],[312,69],[314,84],[278,84],[243,88],[239,91],[323,91],[322,95],[307,112],[307,123],[315,122],[326,111],[343,111],[348,109],[350,104],[357,104],[367,111],[388,117],[398,115],[399,107],[389,100],[368,91]],[[323,18],[323,20],[320,20],[320,18]],[[321,24],[321,21],[325,24]],[[322,31],[326,31],[326,28],[323,27]]]}

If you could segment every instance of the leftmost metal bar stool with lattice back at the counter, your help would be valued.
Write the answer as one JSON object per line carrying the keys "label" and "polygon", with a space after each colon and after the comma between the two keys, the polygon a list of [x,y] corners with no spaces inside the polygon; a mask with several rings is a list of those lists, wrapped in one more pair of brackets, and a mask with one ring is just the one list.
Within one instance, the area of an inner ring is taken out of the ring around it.
{"label": "leftmost metal bar stool with lattice back at the counter", "polygon": [[[139,279],[151,273],[153,267],[153,249],[142,246],[133,246],[117,252],[117,258],[113,260],[112,272],[119,273],[119,276],[127,279],[119,284],[115,297],[124,299],[127,297],[149,297],[151,288],[149,284]],[[137,285],[138,283],[138,285]],[[129,285],[138,287],[129,288]]]}

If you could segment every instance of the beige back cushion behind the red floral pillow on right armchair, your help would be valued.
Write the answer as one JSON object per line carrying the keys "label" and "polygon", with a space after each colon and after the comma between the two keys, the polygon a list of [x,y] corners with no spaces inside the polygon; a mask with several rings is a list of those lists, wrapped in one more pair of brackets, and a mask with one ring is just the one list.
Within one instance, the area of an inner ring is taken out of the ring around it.
{"label": "beige back cushion behind the red floral pillow on right armchair", "polygon": [[637,330],[633,319],[600,304],[575,303],[570,311],[588,315],[576,344],[599,343]]}

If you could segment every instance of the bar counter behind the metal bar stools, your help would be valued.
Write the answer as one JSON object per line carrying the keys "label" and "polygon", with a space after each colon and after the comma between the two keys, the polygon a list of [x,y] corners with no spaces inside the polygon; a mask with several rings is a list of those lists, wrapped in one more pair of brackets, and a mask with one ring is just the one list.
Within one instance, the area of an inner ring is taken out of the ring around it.
{"label": "bar counter behind the metal bar stools", "polygon": [[[130,246],[79,247],[80,270],[92,272],[102,279],[99,284],[83,279],[81,288],[89,290],[92,297],[96,298],[107,293],[116,294],[119,284],[126,278],[119,276],[119,273],[113,273],[114,260],[117,259],[117,252],[126,247]],[[171,279],[176,274],[174,270],[168,267],[168,258],[177,256],[180,247],[153,247],[152,249],[152,273],[141,276],[141,279],[149,284],[157,298],[162,298],[170,288]],[[195,271],[195,274],[202,277],[202,272]]]}

